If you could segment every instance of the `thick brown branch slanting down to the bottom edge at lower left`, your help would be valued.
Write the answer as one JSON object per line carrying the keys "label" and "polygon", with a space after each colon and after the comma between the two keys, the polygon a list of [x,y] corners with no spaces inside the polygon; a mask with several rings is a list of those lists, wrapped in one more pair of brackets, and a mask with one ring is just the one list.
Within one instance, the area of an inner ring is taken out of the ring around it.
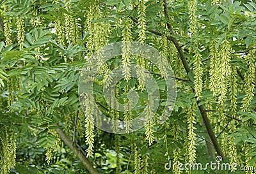
{"label": "thick brown branch slanting down to the bottom edge at lower left", "polygon": [[72,150],[74,152],[74,154],[76,154],[76,156],[80,159],[80,161],[84,164],[84,166],[86,167],[86,169],[92,173],[92,174],[99,174],[95,168],[93,167],[93,164],[83,155],[82,152],[79,151],[79,149],[77,149],[77,147],[74,145],[74,143],[72,142],[72,140],[70,140],[68,138],[68,136],[63,132],[63,130],[61,129],[61,127],[59,126],[59,124],[56,124],[56,126],[58,127],[57,129],[55,129],[57,131],[57,133],[60,135],[61,140],[64,141],[64,143],[70,148],[70,150]]}

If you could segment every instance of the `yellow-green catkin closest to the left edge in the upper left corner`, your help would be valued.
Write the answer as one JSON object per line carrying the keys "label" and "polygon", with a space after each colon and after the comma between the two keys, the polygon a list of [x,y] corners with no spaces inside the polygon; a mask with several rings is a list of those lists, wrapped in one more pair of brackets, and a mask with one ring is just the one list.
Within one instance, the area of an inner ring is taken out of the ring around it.
{"label": "yellow-green catkin closest to the left edge in the upper left corner", "polygon": [[[8,12],[8,8],[4,7],[4,11]],[[4,36],[5,46],[12,45],[12,17],[4,16]]]}

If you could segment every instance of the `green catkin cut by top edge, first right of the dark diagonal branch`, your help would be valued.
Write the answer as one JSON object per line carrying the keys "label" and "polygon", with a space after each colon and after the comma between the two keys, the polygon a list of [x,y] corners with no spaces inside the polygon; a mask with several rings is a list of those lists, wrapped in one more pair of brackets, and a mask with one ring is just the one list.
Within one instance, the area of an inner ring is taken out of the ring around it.
{"label": "green catkin cut by top edge, first right of the dark diagonal branch", "polygon": [[197,33],[197,26],[196,26],[196,8],[197,8],[197,1],[196,0],[189,0],[189,29],[191,36]]}

